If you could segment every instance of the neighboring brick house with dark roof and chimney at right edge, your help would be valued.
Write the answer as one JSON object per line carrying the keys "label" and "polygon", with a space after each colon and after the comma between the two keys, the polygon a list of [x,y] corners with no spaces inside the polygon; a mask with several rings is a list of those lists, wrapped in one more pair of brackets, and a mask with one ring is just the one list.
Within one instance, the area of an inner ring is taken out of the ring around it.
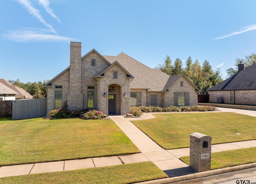
{"label": "neighboring brick house with dark roof and chimney at right edge", "polygon": [[207,90],[211,103],[256,105],[256,63],[244,69],[238,65],[238,73]]}

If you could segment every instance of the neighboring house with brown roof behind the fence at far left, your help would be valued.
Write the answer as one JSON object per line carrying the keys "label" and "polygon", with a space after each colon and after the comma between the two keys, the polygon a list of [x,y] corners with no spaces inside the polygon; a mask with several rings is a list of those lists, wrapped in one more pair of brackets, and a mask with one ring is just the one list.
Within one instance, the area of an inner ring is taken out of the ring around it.
{"label": "neighboring house with brown roof behind the fence at far left", "polygon": [[0,83],[2,83],[6,87],[8,87],[8,88],[10,88],[10,89],[12,89],[13,91],[16,92],[16,95],[15,95],[16,100],[18,100],[18,99],[32,99],[33,98],[33,96],[30,95],[28,92],[26,92],[24,89],[22,89],[20,87],[17,87],[16,85],[12,85],[11,83],[6,81],[5,79],[0,79]]}

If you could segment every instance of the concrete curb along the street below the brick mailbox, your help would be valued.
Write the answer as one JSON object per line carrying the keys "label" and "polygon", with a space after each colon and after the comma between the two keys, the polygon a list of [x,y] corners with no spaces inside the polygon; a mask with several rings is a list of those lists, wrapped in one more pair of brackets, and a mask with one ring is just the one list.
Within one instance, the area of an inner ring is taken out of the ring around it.
{"label": "concrete curb along the street below the brick mailbox", "polygon": [[204,178],[204,177],[213,176],[213,175],[226,174],[228,172],[235,172],[235,171],[246,170],[246,169],[250,169],[250,168],[256,168],[256,162],[250,163],[250,164],[244,164],[244,165],[240,165],[240,166],[232,166],[232,167],[227,167],[227,168],[222,168],[222,169],[197,172],[194,174],[188,174],[188,175],[184,175],[184,176],[176,176],[176,177],[172,177],[172,178],[163,178],[163,179],[151,180],[151,181],[147,181],[147,182],[140,182],[140,184],[172,184],[172,183],[176,183],[176,182],[196,180],[199,178]]}

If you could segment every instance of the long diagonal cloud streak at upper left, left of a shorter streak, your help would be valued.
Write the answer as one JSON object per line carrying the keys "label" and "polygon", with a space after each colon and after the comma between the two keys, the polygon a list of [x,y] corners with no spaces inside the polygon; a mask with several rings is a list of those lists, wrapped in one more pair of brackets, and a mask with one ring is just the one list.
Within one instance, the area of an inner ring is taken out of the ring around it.
{"label": "long diagonal cloud streak at upper left, left of a shorter streak", "polygon": [[52,27],[52,25],[48,24],[41,16],[40,11],[36,8],[34,8],[28,0],[18,0],[18,2],[25,6],[25,8],[28,10],[28,12],[35,16],[40,22],[42,22],[46,27],[50,29],[51,32],[54,34],[57,34],[56,30]]}

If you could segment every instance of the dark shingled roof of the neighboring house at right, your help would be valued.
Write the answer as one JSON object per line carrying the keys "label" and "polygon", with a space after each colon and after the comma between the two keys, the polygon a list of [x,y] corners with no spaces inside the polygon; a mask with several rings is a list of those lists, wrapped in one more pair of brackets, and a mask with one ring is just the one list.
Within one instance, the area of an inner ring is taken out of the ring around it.
{"label": "dark shingled roof of the neighboring house at right", "polygon": [[207,91],[256,90],[256,63]]}

